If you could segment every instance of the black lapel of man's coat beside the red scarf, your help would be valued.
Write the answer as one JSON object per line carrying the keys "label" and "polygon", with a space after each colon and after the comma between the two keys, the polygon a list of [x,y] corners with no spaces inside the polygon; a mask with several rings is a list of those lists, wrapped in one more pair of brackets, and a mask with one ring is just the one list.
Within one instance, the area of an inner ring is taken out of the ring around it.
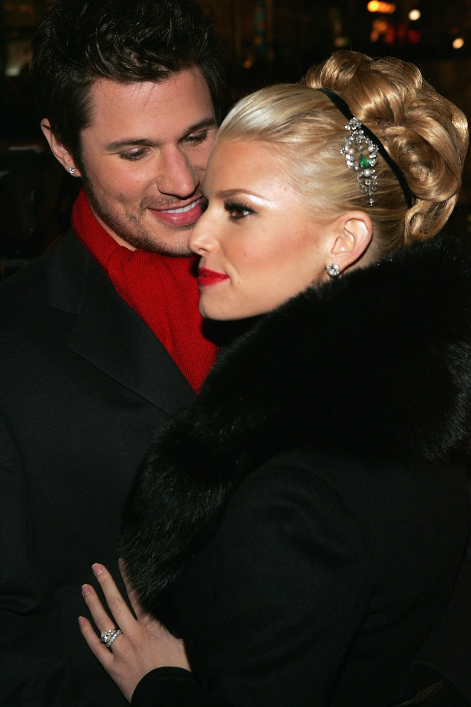
{"label": "black lapel of man's coat beside the red scarf", "polygon": [[169,415],[192,402],[193,390],[165,347],[75,235],[67,233],[54,250],[49,305],[76,315],[69,348]]}

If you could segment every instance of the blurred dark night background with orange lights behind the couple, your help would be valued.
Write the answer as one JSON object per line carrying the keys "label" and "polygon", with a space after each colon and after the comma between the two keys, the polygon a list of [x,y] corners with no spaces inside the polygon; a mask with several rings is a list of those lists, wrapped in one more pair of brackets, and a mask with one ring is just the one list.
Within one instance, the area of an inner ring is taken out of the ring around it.
{"label": "blurred dark night background with orange lights behind the couple", "polygon": [[[471,0],[199,4],[231,57],[225,109],[261,86],[298,81],[335,49],[355,49],[414,62],[471,117]],[[61,237],[80,181],[49,154],[35,114],[30,42],[47,6],[47,0],[0,0],[0,279]],[[450,228],[471,233],[471,156]]]}

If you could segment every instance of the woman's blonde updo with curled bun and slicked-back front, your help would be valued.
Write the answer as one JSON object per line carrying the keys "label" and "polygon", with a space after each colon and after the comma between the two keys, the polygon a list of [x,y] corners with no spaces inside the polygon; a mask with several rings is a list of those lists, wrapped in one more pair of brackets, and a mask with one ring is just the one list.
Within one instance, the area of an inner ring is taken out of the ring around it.
{"label": "woman's blonde updo with curled bun and slicked-back front", "polygon": [[[374,205],[340,155],[347,119],[324,93],[330,88],[381,140],[405,175],[415,203],[408,209],[399,182],[378,156]],[[220,127],[225,140],[266,142],[287,182],[318,220],[366,211],[374,224],[369,259],[430,238],[446,223],[461,186],[467,150],[463,112],[400,59],[335,52],[302,83],[263,88],[232,108]],[[250,168],[250,165],[247,165]]]}

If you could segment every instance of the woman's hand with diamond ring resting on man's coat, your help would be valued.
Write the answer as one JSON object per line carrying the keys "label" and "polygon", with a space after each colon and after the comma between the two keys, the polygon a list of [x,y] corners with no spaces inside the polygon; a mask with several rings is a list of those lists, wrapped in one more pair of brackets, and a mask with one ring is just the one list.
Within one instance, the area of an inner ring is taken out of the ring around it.
{"label": "woman's hand with diamond ring resting on man's coat", "polygon": [[97,592],[88,584],[82,587],[85,604],[90,609],[99,631],[111,631],[119,626],[121,633],[107,648],[105,643],[100,642],[100,636],[97,636],[88,619],[79,617],[78,623],[93,655],[100,660],[126,699],[131,702],[131,696],[138,682],[156,667],[172,666],[190,670],[183,642],[172,636],[172,633],[169,633],[159,621],[143,612],[133,591],[126,584],[126,579],[124,578],[124,583],[137,621],[107,568],[95,564],[93,572],[100,583],[114,620],[110,619]]}

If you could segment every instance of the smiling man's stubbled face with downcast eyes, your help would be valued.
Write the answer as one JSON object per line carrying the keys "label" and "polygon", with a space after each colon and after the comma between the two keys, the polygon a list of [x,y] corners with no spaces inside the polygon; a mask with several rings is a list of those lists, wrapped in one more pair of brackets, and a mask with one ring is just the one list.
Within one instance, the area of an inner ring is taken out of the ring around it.
{"label": "smiling man's stubbled face with downcast eyes", "polygon": [[215,115],[199,69],[160,83],[100,79],[81,133],[81,176],[98,221],[121,245],[189,255]]}

